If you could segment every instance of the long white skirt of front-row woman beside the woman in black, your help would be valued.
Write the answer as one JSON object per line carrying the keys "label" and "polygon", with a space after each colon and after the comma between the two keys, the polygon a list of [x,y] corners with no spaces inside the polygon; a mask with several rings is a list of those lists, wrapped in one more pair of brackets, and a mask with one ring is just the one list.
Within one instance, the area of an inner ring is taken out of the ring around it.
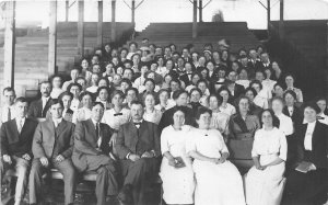
{"label": "long white skirt of front-row woman beside the woman in black", "polygon": [[284,162],[265,170],[250,168],[244,175],[247,205],[280,205],[285,184]]}

